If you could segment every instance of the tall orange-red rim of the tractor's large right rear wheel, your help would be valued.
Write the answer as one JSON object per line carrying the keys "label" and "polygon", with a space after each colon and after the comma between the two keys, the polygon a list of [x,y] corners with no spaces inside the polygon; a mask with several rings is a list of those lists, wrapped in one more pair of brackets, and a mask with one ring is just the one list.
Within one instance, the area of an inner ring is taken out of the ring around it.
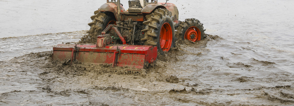
{"label": "tall orange-red rim of the tractor's large right rear wheel", "polygon": [[173,32],[171,30],[170,24],[165,22],[160,29],[160,47],[163,52],[168,52],[170,50],[173,40]]}

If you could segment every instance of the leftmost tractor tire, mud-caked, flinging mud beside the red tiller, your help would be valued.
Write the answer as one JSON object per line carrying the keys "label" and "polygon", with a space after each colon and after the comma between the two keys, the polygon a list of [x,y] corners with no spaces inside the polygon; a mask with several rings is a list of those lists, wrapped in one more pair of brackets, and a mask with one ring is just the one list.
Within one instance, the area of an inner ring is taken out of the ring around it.
{"label": "leftmost tractor tire, mud-caked, flinging mud beside the red tiller", "polygon": [[116,19],[113,18],[114,14],[111,12],[95,11],[94,14],[91,16],[92,22],[88,24],[90,30],[87,32],[87,35],[81,38],[81,43],[97,43],[97,35],[101,35],[101,32],[108,24],[116,24]]}

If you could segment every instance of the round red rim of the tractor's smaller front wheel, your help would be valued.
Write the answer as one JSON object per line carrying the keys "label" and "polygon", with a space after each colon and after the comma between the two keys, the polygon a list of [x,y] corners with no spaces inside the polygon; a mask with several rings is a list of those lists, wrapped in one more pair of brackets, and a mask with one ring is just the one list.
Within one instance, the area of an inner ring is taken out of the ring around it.
{"label": "round red rim of the tractor's smaller front wheel", "polygon": [[185,39],[189,41],[199,41],[201,39],[201,32],[197,27],[190,27],[185,33]]}

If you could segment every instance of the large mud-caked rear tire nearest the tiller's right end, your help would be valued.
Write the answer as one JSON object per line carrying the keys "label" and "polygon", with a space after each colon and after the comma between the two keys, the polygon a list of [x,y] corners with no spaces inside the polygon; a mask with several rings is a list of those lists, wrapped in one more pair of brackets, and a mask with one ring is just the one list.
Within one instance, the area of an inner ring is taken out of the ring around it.
{"label": "large mud-caked rear tire nearest the tiller's right end", "polygon": [[[144,41],[145,45],[152,45],[157,46],[157,51],[160,52],[160,54],[164,54],[165,52],[169,52],[171,47],[174,47],[175,45],[175,27],[173,23],[173,16],[171,16],[171,12],[167,9],[155,9],[155,11],[151,14],[146,15],[147,21],[144,21],[143,24],[145,25],[145,28],[142,30],[144,33],[144,37],[141,39],[141,41]],[[160,45],[160,33],[162,27],[167,26],[167,29],[170,29],[171,31],[166,31],[168,34],[165,34],[168,36],[168,38],[172,38],[172,41],[166,40],[168,44],[164,44],[166,48],[162,48]],[[169,28],[170,26],[170,28]],[[171,34],[170,34],[171,33]],[[171,44],[169,44],[171,42]]]}

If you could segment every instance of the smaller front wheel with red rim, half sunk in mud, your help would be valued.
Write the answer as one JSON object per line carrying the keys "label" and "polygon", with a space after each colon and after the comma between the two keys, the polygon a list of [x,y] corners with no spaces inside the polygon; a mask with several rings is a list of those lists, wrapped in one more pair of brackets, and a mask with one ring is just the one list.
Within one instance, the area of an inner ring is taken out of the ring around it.
{"label": "smaller front wheel with red rim, half sunk in mud", "polygon": [[196,42],[204,39],[204,27],[198,19],[185,19],[177,28],[177,38],[184,40],[187,39],[192,42]]}

